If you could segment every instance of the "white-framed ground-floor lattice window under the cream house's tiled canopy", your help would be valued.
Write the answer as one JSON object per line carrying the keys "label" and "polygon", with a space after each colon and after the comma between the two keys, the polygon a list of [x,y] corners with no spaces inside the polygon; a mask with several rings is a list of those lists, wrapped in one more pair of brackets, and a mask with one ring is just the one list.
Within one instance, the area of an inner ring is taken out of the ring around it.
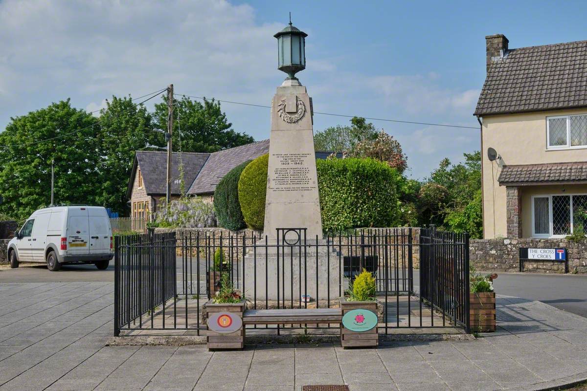
{"label": "white-framed ground-floor lattice window under the cream house's tiled canopy", "polygon": [[532,197],[532,236],[565,237],[587,233],[587,195]]}

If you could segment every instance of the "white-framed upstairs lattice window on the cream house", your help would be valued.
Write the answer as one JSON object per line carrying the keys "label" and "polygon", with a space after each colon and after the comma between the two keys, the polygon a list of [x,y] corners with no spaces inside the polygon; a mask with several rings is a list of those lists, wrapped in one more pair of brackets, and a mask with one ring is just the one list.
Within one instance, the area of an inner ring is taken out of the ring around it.
{"label": "white-framed upstairs lattice window on the cream house", "polygon": [[587,114],[546,118],[548,149],[587,147]]}

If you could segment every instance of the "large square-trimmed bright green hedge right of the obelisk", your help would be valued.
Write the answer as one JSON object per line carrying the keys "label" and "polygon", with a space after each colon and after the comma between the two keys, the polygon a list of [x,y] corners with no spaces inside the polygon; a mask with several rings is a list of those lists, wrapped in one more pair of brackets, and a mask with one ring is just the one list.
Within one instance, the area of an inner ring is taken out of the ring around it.
{"label": "large square-trimmed bright green hedge right of the obelisk", "polygon": [[392,227],[398,213],[396,169],[374,159],[316,161],[322,227]]}

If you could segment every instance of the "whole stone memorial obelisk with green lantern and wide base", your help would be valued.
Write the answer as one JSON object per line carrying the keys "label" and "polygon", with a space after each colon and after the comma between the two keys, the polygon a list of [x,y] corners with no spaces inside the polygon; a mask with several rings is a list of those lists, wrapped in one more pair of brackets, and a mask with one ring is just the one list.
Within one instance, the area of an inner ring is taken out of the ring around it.
{"label": "whole stone memorial obelisk with green lantern and wide base", "polygon": [[244,259],[244,294],[249,300],[285,300],[297,305],[303,294],[312,300],[333,300],[346,286],[342,267],[334,267],[338,253],[326,246],[322,235],[312,98],[295,77],[306,67],[306,36],[291,21],[275,34],[278,69],[288,77],[277,87],[271,103],[267,240],[257,242],[254,253]]}

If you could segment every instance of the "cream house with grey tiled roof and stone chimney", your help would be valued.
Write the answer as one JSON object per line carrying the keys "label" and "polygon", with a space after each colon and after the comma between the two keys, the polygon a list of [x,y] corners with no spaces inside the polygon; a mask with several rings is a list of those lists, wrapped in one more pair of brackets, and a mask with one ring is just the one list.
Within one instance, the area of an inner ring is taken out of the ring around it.
{"label": "cream house with grey tiled roof and stone chimney", "polygon": [[485,39],[474,113],[485,239],[587,232],[587,40],[511,49],[504,35]]}

